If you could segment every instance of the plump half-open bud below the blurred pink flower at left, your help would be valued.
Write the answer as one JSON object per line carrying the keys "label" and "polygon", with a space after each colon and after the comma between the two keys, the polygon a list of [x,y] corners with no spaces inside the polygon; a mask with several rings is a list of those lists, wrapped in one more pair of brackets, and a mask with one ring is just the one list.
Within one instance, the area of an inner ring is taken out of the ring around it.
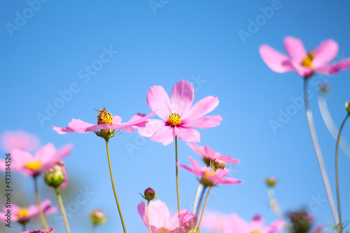
{"label": "plump half-open bud below the blurred pink flower at left", "polygon": [[62,161],[59,161],[55,167],[49,168],[45,171],[44,181],[48,186],[53,188],[66,188],[67,179],[66,165]]}

